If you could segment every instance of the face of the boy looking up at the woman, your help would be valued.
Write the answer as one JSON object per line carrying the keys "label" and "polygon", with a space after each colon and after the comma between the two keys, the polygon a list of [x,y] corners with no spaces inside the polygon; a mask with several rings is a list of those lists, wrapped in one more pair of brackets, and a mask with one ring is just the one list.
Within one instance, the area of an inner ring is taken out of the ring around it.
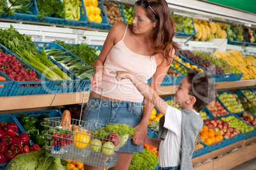
{"label": "face of the boy looking up at the woman", "polygon": [[189,86],[190,84],[188,83],[187,76],[186,76],[180,81],[180,84],[176,86],[176,88],[174,88],[175,95],[174,95],[173,101],[174,103],[180,105],[181,108],[190,97],[190,95],[188,95]]}

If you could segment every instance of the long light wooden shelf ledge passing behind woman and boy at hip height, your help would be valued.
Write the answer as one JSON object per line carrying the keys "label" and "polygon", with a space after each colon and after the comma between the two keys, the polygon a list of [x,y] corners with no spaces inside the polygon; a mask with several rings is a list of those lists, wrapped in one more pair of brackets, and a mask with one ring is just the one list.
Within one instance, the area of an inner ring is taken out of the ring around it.
{"label": "long light wooden shelf ledge passing behind woman and boy at hip height", "polygon": [[[239,89],[256,86],[256,80],[217,82],[217,89]],[[174,95],[175,86],[160,86],[160,96]],[[87,103],[89,91],[85,91],[84,103]],[[56,107],[62,105],[80,104],[83,102],[83,92],[57,93],[46,95],[3,96],[0,97],[3,110],[24,108]],[[0,112],[1,114],[1,112]]]}

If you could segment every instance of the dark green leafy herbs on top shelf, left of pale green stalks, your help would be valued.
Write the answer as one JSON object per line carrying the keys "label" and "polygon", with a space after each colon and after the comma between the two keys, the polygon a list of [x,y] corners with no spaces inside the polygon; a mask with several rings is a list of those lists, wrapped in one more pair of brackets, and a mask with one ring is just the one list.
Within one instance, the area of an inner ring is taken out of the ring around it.
{"label": "dark green leafy herbs on top shelf, left of pale green stalks", "polygon": [[[37,0],[38,3],[38,15],[36,18],[43,20],[45,16],[51,16],[54,18],[65,18],[65,4],[58,0]],[[44,20],[43,20],[44,21]]]}

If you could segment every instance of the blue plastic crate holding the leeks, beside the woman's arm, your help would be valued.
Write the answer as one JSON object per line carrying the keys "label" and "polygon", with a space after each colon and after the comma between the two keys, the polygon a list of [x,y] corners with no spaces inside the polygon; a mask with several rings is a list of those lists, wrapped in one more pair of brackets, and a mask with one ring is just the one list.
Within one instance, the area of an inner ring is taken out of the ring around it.
{"label": "blue plastic crate holding the leeks, beside the woman's arm", "polygon": [[[59,44],[55,43],[55,42],[39,42],[39,41],[35,41],[34,42],[36,44],[36,46],[38,47],[38,49],[43,49],[43,46],[45,45],[45,49],[50,49],[50,48],[55,48],[55,49],[64,49],[64,51],[68,51],[68,49],[63,48],[62,46],[60,46]],[[77,56],[73,55],[73,53],[67,53],[66,55],[72,56],[73,58],[78,58]],[[49,56],[49,58],[51,58]],[[55,60],[53,60],[51,58],[51,61],[55,64],[55,65],[61,65],[60,63],[56,62]],[[78,62],[82,62],[82,60],[80,60],[80,58],[78,58]],[[88,65],[87,63],[85,63],[85,65]],[[66,66],[62,67],[66,68],[68,70],[68,68]],[[71,72],[71,71],[69,71]],[[75,75],[75,74],[73,74]],[[76,84],[73,88],[73,91],[71,92],[75,92],[75,91],[83,91],[85,89],[85,91],[89,90],[89,86],[90,86],[90,80],[89,79],[80,79],[79,77],[77,77],[75,75],[76,78]]]}

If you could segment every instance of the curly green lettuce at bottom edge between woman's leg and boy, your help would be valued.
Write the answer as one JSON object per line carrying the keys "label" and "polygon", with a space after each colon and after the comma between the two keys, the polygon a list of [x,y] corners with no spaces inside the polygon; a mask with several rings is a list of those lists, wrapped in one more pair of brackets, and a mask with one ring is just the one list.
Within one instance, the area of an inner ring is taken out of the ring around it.
{"label": "curly green lettuce at bottom edge between woman's leg and boy", "polygon": [[133,154],[129,170],[153,170],[157,163],[157,155],[153,154],[148,148],[143,148],[143,152]]}

